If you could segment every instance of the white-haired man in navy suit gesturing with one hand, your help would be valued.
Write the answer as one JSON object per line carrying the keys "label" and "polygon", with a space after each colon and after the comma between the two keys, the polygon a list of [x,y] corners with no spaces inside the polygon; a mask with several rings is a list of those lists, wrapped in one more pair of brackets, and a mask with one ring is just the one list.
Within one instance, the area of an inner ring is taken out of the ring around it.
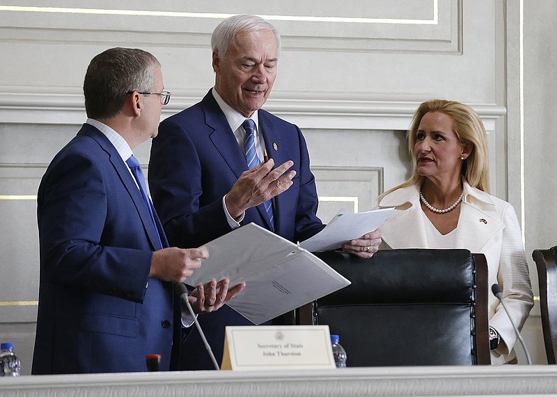
{"label": "white-haired man in navy suit gesturing with one hand", "polygon": [[[217,26],[211,44],[214,88],[164,120],[152,141],[149,184],[166,234],[179,247],[196,247],[255,222],[304,241],[324,227],[306,141],[297,126],[261,109],[276,78],[278,32],[260,17],[237,15]],[[375,231],[344,248],[371,257],[380,241]],[[204,316],[217,359],[224,327],[244,324],[228,307]],[[199,354],[182,356],[180,368],[212,368],[196,330],[185,346]]]}

